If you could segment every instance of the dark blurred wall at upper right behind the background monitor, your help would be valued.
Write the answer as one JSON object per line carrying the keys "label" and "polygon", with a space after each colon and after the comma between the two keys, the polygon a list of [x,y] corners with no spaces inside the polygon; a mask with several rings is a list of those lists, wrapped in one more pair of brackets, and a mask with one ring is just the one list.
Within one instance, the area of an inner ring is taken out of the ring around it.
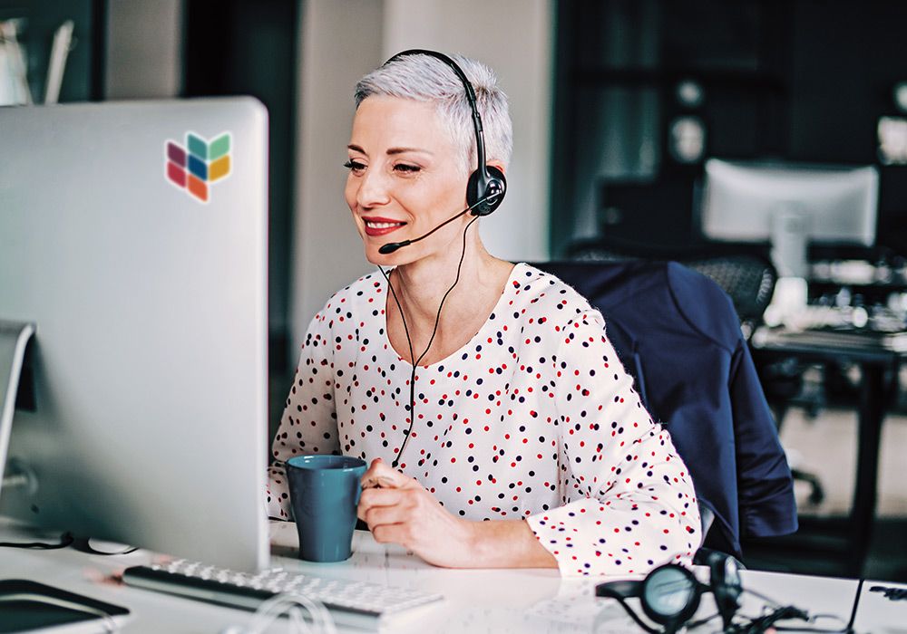
{"label": "dark blurred wall at upper right behind the background monitor", "polygon": [[[599,0],[561,2],[558,11],[551,245],[558,255],[590,191],[602,232],[662,245],[701,239],[702,163],[670,156],[675,117],[704,121],[705,158],[878,165],[878,119],[895,113],[892,87],[907,80],[903,2]],[[703,87],[700,106],[678,103],[683,79]],[[610,142],[590,130],[639,123],[632,112],[615,120],[607,108],[584,108],[590,95],[618,89],[658,94],[654,113],[639,114],[655,119],[643,127],[658,137],[656,167],[622,176],[611,164],[577,179],[577,165],[595,163]],[[907,168],[878,167],[879,243],[907,255]]]}

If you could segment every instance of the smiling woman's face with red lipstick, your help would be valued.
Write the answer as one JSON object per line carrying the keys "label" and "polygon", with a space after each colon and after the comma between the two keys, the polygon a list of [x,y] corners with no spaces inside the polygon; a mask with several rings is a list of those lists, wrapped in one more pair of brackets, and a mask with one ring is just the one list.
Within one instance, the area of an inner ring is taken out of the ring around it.
{"label": "smiling woman's face with red lipstick", "polygon": [[466,215],[394,254],[378,248],[431,231],[466,207],[462,159],[432,104],[374,95],[356,110],[348,146],[346,204],[373,264],[408,264],[447,253]]}

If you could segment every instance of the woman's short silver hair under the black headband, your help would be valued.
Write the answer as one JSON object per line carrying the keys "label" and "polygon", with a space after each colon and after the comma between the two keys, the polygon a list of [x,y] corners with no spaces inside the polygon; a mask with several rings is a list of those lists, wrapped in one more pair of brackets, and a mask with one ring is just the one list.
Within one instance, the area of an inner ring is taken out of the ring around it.
{"label": "woman's short silver hair under the black headband", "polygon": [[[451,58],[473,84],[476,107],[482,117],[485,160],[499,160],[506,166],[513,151],[507,95],[498,86],[492,69],[482,62],[463,55],[451,55]],[[385,63],[356,83],[356,109],[372,95],[434,103],[454,145],[460,149],[463,175],[476,168],[473,111],[463,82],[446,63],[425,54],[405,55]]]}

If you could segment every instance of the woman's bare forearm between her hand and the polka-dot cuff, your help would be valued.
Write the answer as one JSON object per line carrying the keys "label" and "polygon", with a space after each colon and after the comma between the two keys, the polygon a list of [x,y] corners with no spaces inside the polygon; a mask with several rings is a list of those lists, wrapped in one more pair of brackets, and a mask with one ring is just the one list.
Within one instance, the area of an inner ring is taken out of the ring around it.
{"label": "woman's bare forearm between her hand and the polka-dot cuff", "polygon": [[522,520],[469,522],[474,568],[557,568],[558,562]]}

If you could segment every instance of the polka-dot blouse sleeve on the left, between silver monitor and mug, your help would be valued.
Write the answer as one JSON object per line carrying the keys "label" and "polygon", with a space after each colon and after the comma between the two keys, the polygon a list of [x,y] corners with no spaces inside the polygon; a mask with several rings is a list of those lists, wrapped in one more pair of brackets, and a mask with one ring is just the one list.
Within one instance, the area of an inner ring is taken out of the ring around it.
{"label": "polka-dot blouse sleeve on the left, between silver monitor and mug", "polygon": [[308,325],[296,375],[280,427],[271,445],[268,467],[268,515],[290,519],[284,461],[303,454],[340,454],[334,402],[333,342],[326,312]]}

